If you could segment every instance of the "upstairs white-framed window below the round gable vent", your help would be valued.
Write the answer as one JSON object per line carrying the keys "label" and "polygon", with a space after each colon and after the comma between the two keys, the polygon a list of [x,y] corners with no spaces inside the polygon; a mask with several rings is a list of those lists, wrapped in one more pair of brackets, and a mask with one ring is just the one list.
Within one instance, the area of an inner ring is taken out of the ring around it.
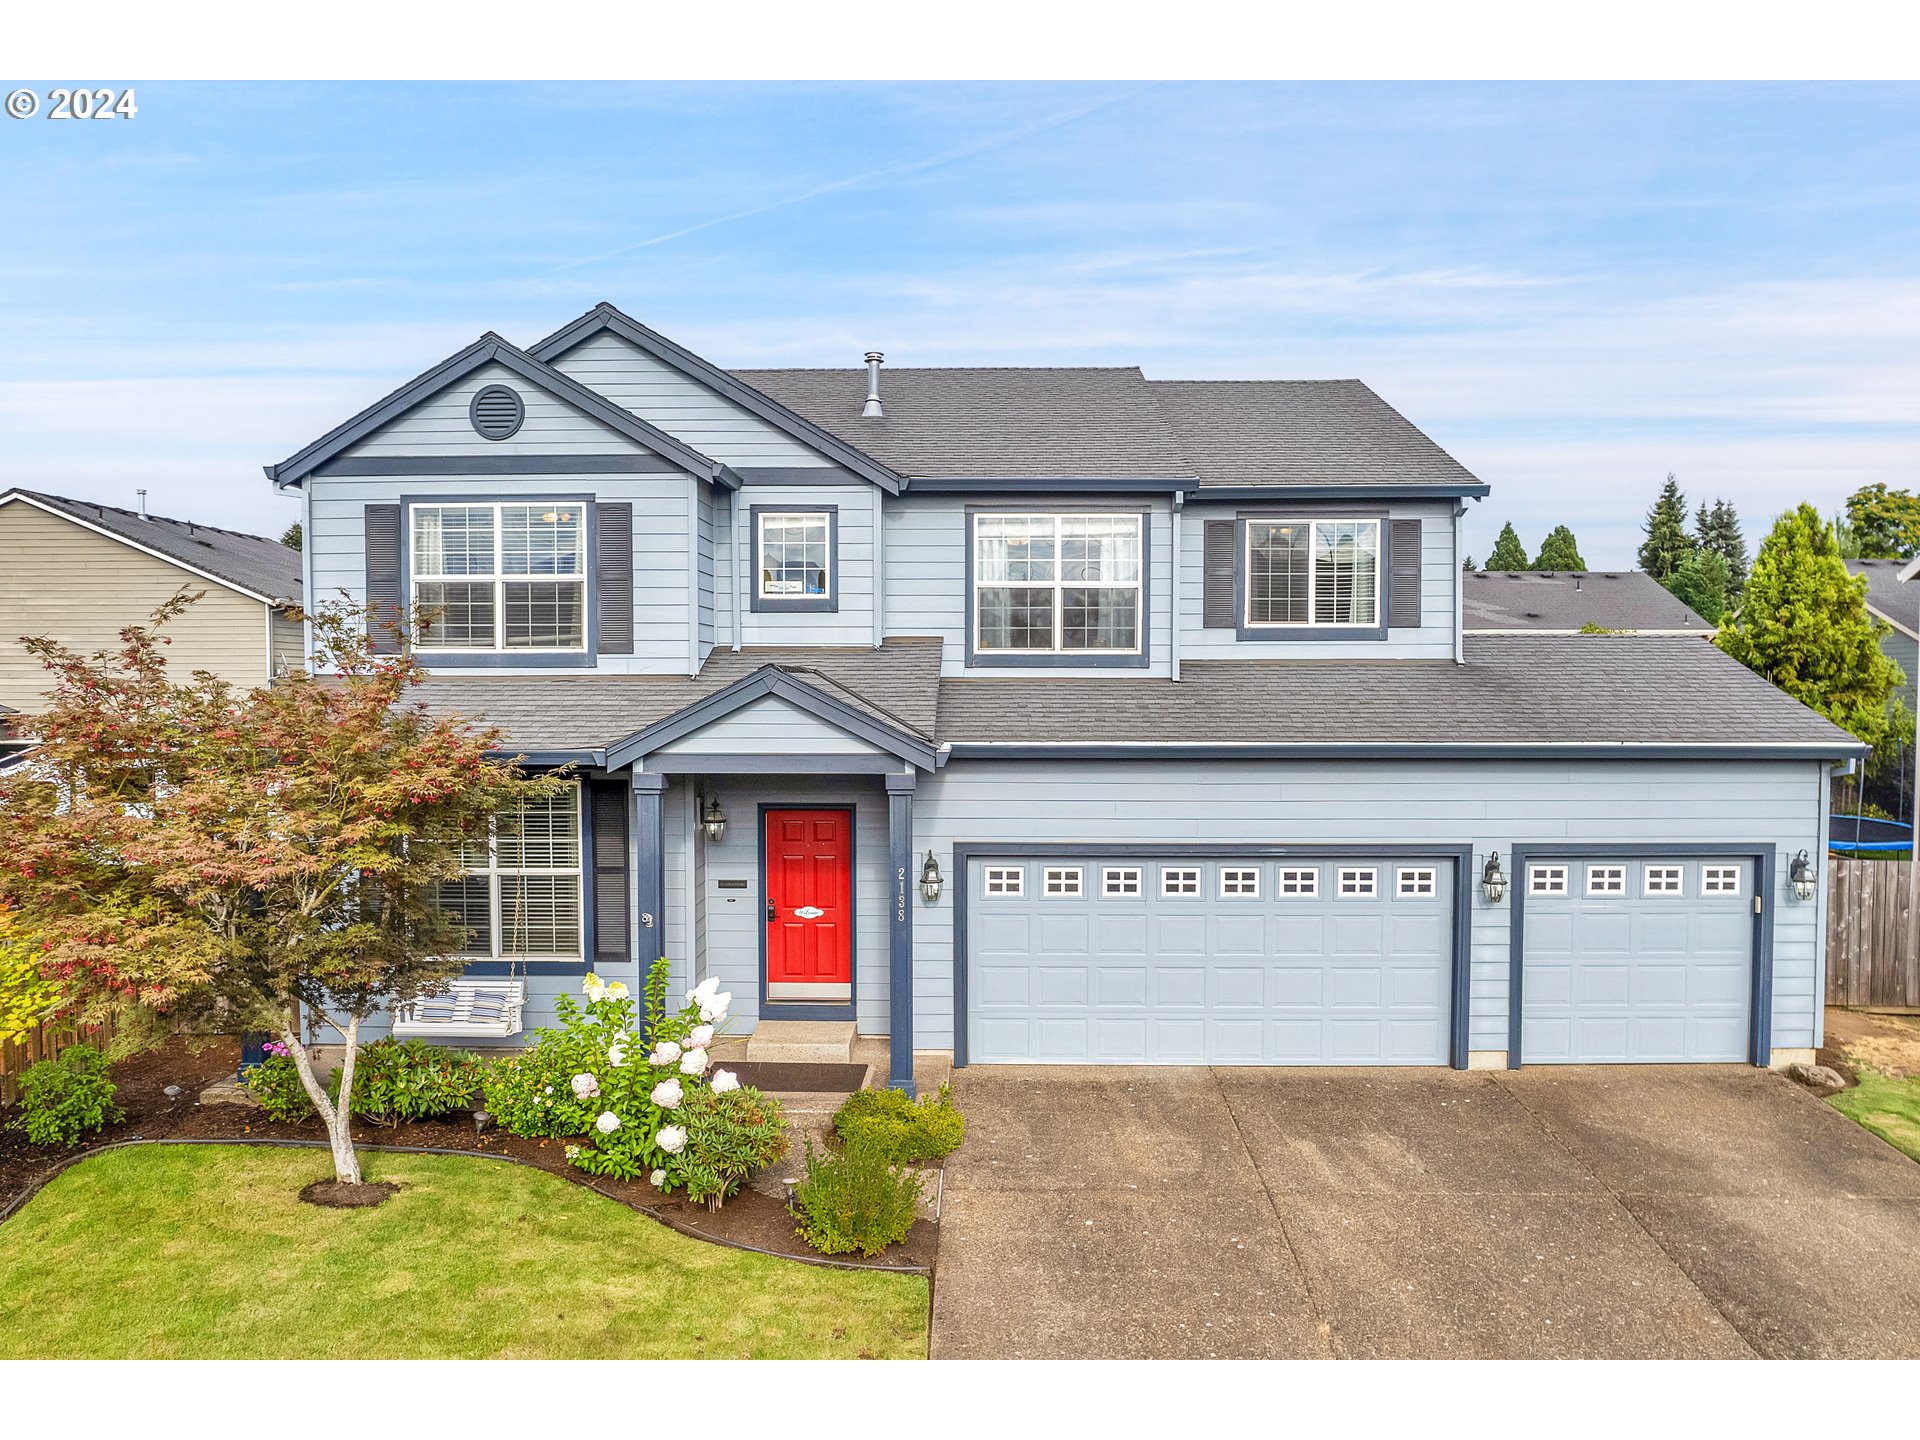
{"label": "upstairs white-framed window below the round gable vent", "polygon": [[434,651],[584,651],[586,507],[580,501],[413,505],[411,601],[438,611],[415,636]]}

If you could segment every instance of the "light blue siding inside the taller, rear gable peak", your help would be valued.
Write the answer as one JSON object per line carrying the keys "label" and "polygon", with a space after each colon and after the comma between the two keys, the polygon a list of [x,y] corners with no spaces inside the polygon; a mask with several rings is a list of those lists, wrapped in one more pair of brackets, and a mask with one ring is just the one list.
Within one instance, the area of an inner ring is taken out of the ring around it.
{"label": "light blue siding inside the taller, rear gable peak", "polygon": [[616,334],[576,346],[553,369],[722,465],[831,467],[818,451]]}

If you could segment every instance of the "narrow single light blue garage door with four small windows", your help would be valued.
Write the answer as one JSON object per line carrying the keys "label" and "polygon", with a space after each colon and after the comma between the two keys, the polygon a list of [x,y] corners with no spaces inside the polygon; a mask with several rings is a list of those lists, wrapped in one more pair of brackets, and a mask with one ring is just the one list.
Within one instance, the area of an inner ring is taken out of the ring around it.
{"label": "narrow single light blue garage door with four small windows", "polygon": [[1528,860],[1521,1062],[1747,1060],[1753,860]]}

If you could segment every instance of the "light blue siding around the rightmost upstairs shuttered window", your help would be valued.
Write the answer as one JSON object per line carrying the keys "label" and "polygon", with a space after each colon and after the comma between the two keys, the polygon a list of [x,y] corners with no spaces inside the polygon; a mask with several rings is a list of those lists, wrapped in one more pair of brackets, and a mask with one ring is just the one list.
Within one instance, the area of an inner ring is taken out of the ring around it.
{"label": "light blue siding around the rightmost upstairs shuttered window", "polygon": [[[1208,520],[1231,520],[1240,511],[1273,513],[1271,505],[1204,505],[1188,501],[1181,520],[1181,659],[1183,660],[1450,660],[1453,659],[1453,593],[1459,574],[1453,559],[1452,503],[1394,503],[1390,520],[1421,522],[1421,626],[1388,630],[1386,639],[1252,641],[1233,630],[1206,630],[1204,545]],[[1386,559],[1382,555],[1382,566]],[[1384,588],[1382,588],[1384,595]]]}

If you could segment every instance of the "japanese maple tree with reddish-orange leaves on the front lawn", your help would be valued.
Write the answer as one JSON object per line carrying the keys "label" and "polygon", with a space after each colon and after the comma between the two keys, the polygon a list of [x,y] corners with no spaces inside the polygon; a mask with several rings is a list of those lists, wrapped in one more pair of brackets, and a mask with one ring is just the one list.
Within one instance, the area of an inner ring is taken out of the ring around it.
{"label": "japanese maple tree with reddish-orange leaves on the front lawn", "polygon": [[[175,1031],[273,1031],[359,1183],[348,1131],[359,1031],[444,989],[467,927],[440,902],[461,847],[566,783],[490,753],[499,732],[430,714],[401,645],[365,614],[311,616],[315,674],[238,689],[167,668],[192,599],[81,655],[27,639],[54,674],[35,758],[0,776],[0,902],[75,1020],[117,1010]],[[300,1012],[346,1044],[330,1096]]]}

